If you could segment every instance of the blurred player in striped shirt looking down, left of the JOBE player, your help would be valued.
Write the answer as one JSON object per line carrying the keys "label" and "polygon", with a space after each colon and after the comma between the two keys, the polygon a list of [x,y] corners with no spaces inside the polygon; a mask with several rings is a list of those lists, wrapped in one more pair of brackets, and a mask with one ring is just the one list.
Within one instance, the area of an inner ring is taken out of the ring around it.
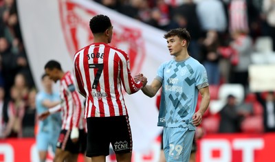
{"label": "blurred player in striped shirt looking down, left of the JOBE player", "polygon": [[85,152],[87,134],[83,103],[76,91],[74,76],[69,71],[64,72],[56,60],[46,63],[45,73],[54,82],[60,81],[61,104],[39,115],[40,119],[45,119],[52,113],[62,111],[62,127],[56,143],[54,161],[77,161],[78,154]]}

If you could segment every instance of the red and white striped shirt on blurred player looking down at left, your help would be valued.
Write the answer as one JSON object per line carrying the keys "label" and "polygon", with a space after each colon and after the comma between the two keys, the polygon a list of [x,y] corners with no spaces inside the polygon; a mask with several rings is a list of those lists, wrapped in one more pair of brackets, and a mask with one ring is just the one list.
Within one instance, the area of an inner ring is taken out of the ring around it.
{"label": "red and white striped shirt on blurred player looking down at left", "polygon": [[83,104],[80,95],[76,91],[74,76],[67,71],[60,80],[61,86],[61,111],[62,111],[62,129],[71,130],[72,127],[83,129]]}

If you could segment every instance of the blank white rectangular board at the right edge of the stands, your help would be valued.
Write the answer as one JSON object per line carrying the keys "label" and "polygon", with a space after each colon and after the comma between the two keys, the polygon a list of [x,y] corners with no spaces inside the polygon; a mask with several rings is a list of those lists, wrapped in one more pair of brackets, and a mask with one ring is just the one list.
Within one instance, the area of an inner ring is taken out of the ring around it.
{"label": "blank white rectangular board at the right edge of the stands", "polygon": [[250,91],[263,92],[275,90],[275,65],[250,65]]}

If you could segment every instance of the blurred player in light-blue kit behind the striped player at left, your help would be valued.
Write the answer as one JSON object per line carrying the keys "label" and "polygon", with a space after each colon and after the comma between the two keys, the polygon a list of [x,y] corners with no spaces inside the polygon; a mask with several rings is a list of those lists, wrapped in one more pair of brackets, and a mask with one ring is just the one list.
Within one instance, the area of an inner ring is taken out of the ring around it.
{"label": "blurred player in light-blue kit behind the striped player at left", "polygon": [[[46,74],[41,78],[43,91],[36,94],[36,111],[37,114],[48,110],[60,103],[59,94],[52,90],[52,80]],[[47,158],[48,147],[56,152],[56,143],[59,132],[61,131],[61,113],[55,113],[43,121],[39,121],[39,130],[36,135],[36,146],[39,150],[40,162],[45,162]]]}

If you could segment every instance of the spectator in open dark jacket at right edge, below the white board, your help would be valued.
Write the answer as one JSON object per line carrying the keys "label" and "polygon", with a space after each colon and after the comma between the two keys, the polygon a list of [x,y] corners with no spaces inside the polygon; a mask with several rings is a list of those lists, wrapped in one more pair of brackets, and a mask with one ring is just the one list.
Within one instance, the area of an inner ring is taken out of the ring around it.
{"label": "spectator in open dark jacket at right edge, below the white board", "polygon": [[265,132],[275,132],[275,97],[274,92],[256,93],[257,100],[263,106],[263,126]]}

